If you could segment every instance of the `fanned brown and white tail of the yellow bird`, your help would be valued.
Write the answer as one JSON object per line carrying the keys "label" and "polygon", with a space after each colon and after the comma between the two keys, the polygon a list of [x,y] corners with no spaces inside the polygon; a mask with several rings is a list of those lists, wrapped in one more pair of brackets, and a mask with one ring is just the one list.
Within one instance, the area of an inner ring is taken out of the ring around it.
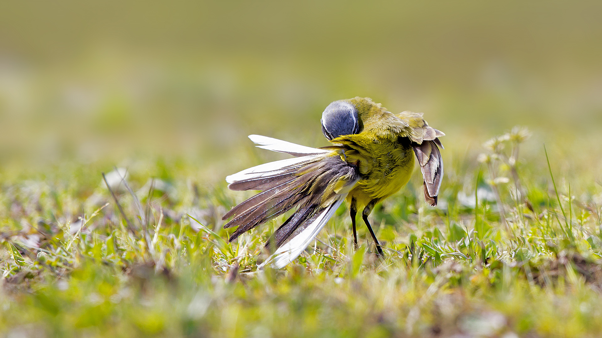
{"label": "fanned brown and white tail of the yellow bird", "polygon": [[[269,261],[282,268],[317,236],[358,181],[359,174],[355,165],[328,150],[252,136],[265,149],[300,157],[258,165],[226,177],[230,189],[262,192],[224,215],[224,220],[232,217],[224,227],[238,226],[229,238],[234,241],[242,233],[296,208],[266,244],[276,250]],[[269,145],[266,139],[271,142]]]}

